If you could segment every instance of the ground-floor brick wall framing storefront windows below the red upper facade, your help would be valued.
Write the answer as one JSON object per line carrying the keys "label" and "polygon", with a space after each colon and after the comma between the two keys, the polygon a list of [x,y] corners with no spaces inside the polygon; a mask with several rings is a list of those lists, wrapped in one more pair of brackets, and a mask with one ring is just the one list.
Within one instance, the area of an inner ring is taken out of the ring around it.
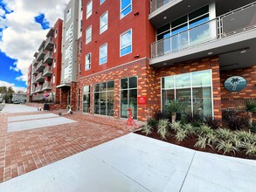
{"label": "ground-floor brick wall framing storefront windows below the red upper facade", "polygon": [[149,76],[154,76],[155,72],[149,66],[148,58],[142,58],[135,62],[128,63],[126,65],[121,65],[105,72],[98,72],[96,74],[90,75],[85,78],[80,78],[78,82],[77,90],[80,88],[80,108],[82,108],[82,90],[83,86],[91,86],[91,106],[93,104],[93,85],[114,80],[114,109],[118,110],[120,114],[120,79],[137,76],[138,77],[138,96],[146,96],[147,104],[138,105],[138,120],[146,120],[147,114],[145,113],[147,109],[154,110],[156,108],[156,103],[154,102],[155,91],[150,92],[149,88],[153,88],[154,85],[149,85],[153,82],[153,79],[149,79]]}

